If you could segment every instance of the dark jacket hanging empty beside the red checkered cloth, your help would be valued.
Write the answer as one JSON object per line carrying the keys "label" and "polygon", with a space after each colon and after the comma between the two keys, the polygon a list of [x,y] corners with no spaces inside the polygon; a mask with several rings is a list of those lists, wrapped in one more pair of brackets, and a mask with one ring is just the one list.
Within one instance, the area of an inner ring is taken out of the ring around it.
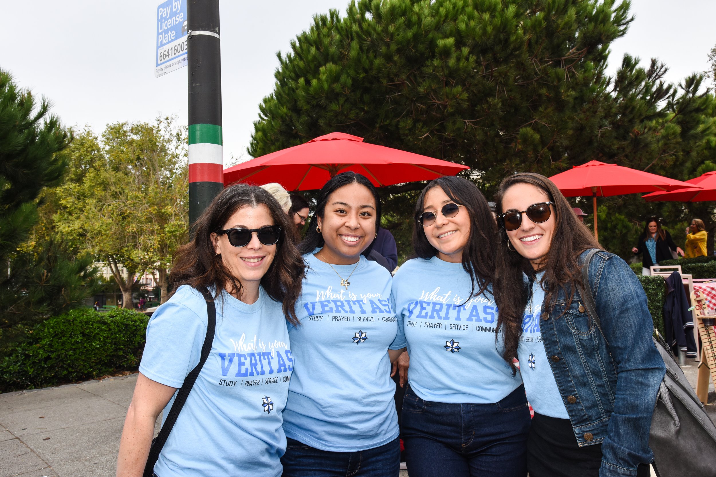
{"label": "dark jacket hanging empty beside the red checkered cloth", "polygon": [[675,355],[685,353],[687,358],[696,359],[696,338],[694,338],[694,317],[689,311],[689,301],[682,285],[679,272],[673,272],[666,279],[667,299],[664,301],[664,328],[666,339]]}

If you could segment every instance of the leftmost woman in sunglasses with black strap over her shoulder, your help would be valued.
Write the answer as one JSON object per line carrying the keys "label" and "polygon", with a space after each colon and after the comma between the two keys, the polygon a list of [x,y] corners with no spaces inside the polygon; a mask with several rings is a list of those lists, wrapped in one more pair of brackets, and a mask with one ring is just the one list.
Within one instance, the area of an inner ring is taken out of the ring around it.
{"label": "leftmost woman in sunglasses with black strap over her shoulder", "polygon": [[286,448],[281,411],[293,356],[286,320],[296,322],[305,267],[285,231],[294,225],[269,192],[224,189],[180,247],[175,293],[153,314],[122,432],[117,476],[140,477],[159,413],[198,365],[216,308],[211,352],[154,466],[155,476],[279,476]]}

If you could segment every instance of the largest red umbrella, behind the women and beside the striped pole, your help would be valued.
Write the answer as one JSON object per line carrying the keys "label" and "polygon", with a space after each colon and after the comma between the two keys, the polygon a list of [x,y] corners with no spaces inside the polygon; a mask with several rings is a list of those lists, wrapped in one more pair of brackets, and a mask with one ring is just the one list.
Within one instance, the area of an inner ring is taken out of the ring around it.
{"label": "largest red umbrella, behind the women and beside the striped pole", "polygon": [[470,167],[412,152],[363,142],[362,137],[332,132],[305,144],[256,157],[224,170],[224,185],[279,182],[286,190],[320,189],[334,175],[354,171],[376,187],[432,180]]}

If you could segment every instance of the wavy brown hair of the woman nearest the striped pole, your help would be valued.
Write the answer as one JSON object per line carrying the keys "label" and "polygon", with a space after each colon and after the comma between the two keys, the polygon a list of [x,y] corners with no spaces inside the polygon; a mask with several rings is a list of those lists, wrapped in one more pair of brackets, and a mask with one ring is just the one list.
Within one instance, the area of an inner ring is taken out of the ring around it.
{"label": "wavy brown hair of the woman nearest the striped pole", "polygon": [[211,202],[211,205],[199,217],[194,228],[194,238],[179,247],[174,255],[174,265],[169,281],[176,290],[181,285],[191,287],[216,287],[215,299],[221,290],[235,290],[241,295],[241,281],[223,264],[220,255],[216,255],[211,234],[223,229],[231,216],[241,207],[258,207],[259,204],[269,207],[274,225],[281,225],[281,238],[276,244],[276,256],[271,262],[266,275],[261,278],[263,290],[272,299],[283,302],[284,315],[292,324],[298,323],[296,317],[296,300],[301,296],[301,283],[306,274],[306,267],[299,250],[291,240],[293,221],[281,209],[269,192],[261,187],[236,184],[226,187]]}

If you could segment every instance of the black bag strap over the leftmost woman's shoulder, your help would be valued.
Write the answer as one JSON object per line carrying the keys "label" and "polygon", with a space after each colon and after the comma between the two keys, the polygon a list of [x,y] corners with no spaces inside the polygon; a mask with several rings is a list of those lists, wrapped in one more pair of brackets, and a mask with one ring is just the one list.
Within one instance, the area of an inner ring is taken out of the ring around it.
{"label": "black bag strap over the leftmost woman's shoulder", "polygon": [[161,431],[159,431],[159,435],[152,443],[142,477],[152,477],[154,475],[154,465],[157,463],[159,453],[162,451],[164,444],[167,442],[169,433],[172,431],[174,423],[176,423],[177,418],[179,417],[181,408],[184,407],[184,403],[186,403],[186,399],[189,397],[191,388],[193,387],[196,378],[198,378],[201,368],[203,368],[204,363],[206,363],[206,358],[209,357],[211,345],[214,341],[214,332],[216,331],[216,306],[214,305],[211,293],[209,293],[209,290],[207,290],[206,287],[198,287],[197,290],[201,292],[204,296],[204,300],[206,300],[207,315],[206,337],[204,338],[204,344],[201,347],[201,357],[199,358],[198,365],[196,365],[195,368],[191,370],[188,375],[186,375],[184,383],[181,385],[181,388],[177,393],[177,397],[174,400],[174,404],[169,410],[167,418],[164,420],[164,425],[162,426]]}

